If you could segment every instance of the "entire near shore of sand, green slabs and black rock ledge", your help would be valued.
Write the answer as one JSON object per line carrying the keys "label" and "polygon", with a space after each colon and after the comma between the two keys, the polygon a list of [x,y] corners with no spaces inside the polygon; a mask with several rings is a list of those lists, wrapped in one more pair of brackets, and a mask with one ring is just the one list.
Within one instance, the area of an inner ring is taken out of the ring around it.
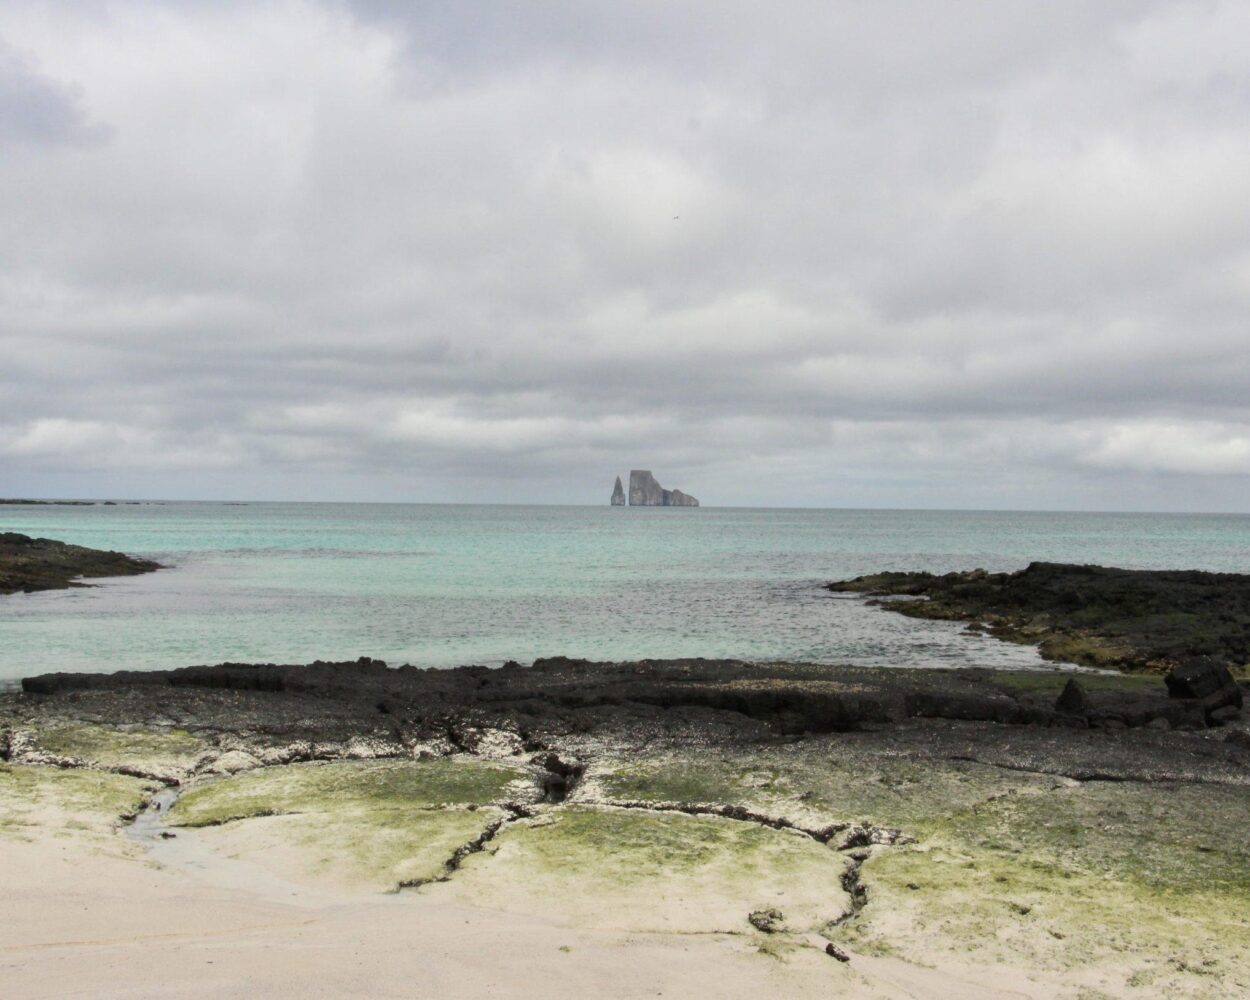
{"label": "entire near shore of sand, green slabs and black rock ledge", "polygon": [[1129,728],[1114,712],[1186,699],[1085,678],[1084,715],[1055,709],[1068,675],[699,660],[2,695],[11,981],[41,995],[51,959],[105,996],[326,976],[350,996],[1238,996],[1250,726],[1191,705]]}

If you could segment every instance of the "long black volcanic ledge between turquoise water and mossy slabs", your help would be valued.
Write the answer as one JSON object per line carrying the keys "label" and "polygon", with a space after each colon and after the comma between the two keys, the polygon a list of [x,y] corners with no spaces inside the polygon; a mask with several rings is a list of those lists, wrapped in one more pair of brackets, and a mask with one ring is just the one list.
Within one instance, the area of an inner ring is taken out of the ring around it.
{"label": "long black volcanic ledge between turquoise water and mossy slabs", "polygon": [[[1162,718],[1170,726],[1205,726],[1204,702],[1169,699],[1160,682],[1149,690],[1135,679],[1129,688],[1104,684],[1082,715],[1054,710],[1062,675],[1019,675],[1006,684],[991,671],[889,670],[812,664],[751,664],[738,660],[642,660],[592,662],[550,658],[532,668],[489,670],[392,670],[380,660],[308,665],[221,664],[178,670],[119,674],[44,674],[22,680],[28,695],[88,696],[108,702],[124,696],[149,702],[152,714],[178,691],[220,691],[222,705],[238,708],[240,695],[261,699],[258,711],[318,704],[360,724],[446,728],[465,719],[486,720],[522,734],[544,728],[598,726],[606,719],[640,725],[685,726],[694,719],[778,736],[854,732],[911,719],[944,719],[1046,728],[1081,725],[1145,726]],[[1036,680],[1034,680],[1036,679]],[[269,699],[265,701],[264,699]],[[192,701],[201,700],[195,695]],[[311,701],[310,701],[311,700]],[[200,704],[198,701],[198,704]],[[202,702],[209,704],[209,702]],[[385,706],[381,710],[379,706]],[[294,711],[294,709],[292,709]],[[281,715],[281,712],[280,712]],[[228,712],[229,716],[229,712]],[[285,718],[285,715],[281,715]],[[219,720],[232,725],[234,720]],[[475,722],[476,724],[476,722]],[[471,726],[469,726],[471,729]],[[451,732],[449,739],[462,742]],[[541,740],[539,740],[541,744]],[[575,765],[548,770],[576,781]],[[552,778],[552,794],[560,782]]]}

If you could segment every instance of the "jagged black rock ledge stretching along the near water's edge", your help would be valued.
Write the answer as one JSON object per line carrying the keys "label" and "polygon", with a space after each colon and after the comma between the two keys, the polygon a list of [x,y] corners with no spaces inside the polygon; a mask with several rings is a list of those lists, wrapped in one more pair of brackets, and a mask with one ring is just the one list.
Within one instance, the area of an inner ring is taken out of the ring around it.
{"label": "jagged black rock ledge stretching along the near water's edge", "polygon": [[[1026,731],[1046,732],[1038,739],[1050,759],[1062,758],[1062,748],[1070,746],[1068,732],[1132,730],[1149,744],[1171,730],[1240,725],[1234,704],[1211,710],[1204,698],[1170,698],[1161,680],[1142,684],[1140,678],[1089,676],[1096,678],[1098,686],[1091,680],[1084,704],[1072,706],[1068,699],[1056,705],[1060,689],[1071,678],[1062,671],[898,670],[699,659],[592,662],[562,656],[506,670],[419,670],[408,665],[391,669],[362,656],[355,662],[42,674],[24,678],[20,696],[0,694],[0,710],[6,708],[6,698],[21,698],[22,711],[54,699],[56,705],[72,704],[96,718],[116,714],[128,722],[178,718],[182,725],[194,721],[192,728],[268,732],[284,744],[346,741],[372,732],[390,732],[389,739],[394,739],[402,731],[425,742],[446,740],[461,750],[478,746],[480,738],[474,732],[485,726],[515,734],[512,750],[548,755],[546,770],[562,779],[545,781],[548,801],[558,800],[561,790],[568,795],[576,785],[584,758],[570,751],[551,759],[556,751],[544,742],[542,734],[585,734],[600,725],[625,726],[638,734],[670,726],[689,731],[691,726],[728,725],[744,736],[786,736],[864,732],[882,726],[914,729],[924,720],[941,720],[1011,726],[1018,734],[1014,740],[1031,739],[1019,735]],[[8,708],[11,714],[11,702]],[[965,738],[974,731],[984,730],[965,729]],[[1232,736],[1240,732],[1236,728]],[[16,752],[12,739],[6,751],[10,756]],[[966,739],[959,746],[959,754],[969,754]],[[1204,759],[1224,752],[1244,756],[1240,746],[1236,739],[1202,740],[1195,751]],[[1122,754],[1125,764],[1141,750],[1141,744],[1109,745],[1109,752]],[[1175,774],[1176,752],[1175,746],[1164,751],[1160,776]],[[1250,766],[1250,758],[1245,760]],[[1109,761],[1104,765],[1096,772],[1112,774]],[[1216,780],[1218,762],[1208,759],[1199,770],[1202,780]]]}

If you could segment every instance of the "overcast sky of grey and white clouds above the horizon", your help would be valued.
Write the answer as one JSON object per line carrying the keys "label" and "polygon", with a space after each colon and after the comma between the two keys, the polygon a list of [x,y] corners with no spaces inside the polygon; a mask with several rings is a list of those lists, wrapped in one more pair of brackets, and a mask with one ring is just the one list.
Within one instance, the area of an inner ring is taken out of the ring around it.
{"label": "overcast sky of grey and white clouds above the horizon", "polygon": [[0,494],[1250,511],[1250,4],[0,5]]}

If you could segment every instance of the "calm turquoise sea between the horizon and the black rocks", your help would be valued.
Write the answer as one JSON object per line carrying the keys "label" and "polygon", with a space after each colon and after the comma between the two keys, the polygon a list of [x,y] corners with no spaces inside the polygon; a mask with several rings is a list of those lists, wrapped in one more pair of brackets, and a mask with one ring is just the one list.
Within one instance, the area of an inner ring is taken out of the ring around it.
{"label": "calm turquoise sea between the horizon and the black rocks", "polygon": [[0,508],[0,530],[172,569],[0,598],[0,680],[369,655],[422,666],[738,656],[1040,665],[820,588],[1032,559],[1250,570],[1240,515],[405,504]]}

